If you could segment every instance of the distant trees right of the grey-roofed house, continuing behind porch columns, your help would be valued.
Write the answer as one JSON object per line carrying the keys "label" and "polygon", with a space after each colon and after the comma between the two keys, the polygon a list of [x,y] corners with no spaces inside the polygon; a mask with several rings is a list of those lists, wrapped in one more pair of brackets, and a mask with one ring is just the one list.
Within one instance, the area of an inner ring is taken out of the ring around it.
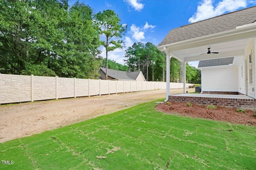
{"label": "distant trees right of the grey-roofed house, continuing behind porch columns", "polygon": [[[166,81],[166,55],[152,43],[134,43],[124,55],[131,71],[142,71],[147,81]],[[170,81],[183,82],[182,63],[170,59]],[[201,71],[186,63],[186,82],[201,84]]]}

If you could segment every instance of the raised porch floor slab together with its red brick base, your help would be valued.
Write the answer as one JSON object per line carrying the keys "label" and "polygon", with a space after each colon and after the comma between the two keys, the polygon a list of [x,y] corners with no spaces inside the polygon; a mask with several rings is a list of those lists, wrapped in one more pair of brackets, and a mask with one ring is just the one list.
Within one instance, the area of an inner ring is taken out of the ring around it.
{"label": "raised porch floor slab together with its red brick base", "polygon": [[231,94],[176,94],[171,95],[168,101],[190,102],[199,105],[216,105],[222,107],[233,107],[242,109],[255,108],[256,99],[247,95]]}

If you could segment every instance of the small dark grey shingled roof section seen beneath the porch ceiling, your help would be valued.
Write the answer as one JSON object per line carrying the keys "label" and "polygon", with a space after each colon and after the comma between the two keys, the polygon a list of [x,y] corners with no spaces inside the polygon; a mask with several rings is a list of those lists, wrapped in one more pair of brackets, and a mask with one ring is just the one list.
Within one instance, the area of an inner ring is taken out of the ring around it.
{"label": "small dark grey shingled roof section seen beneath the porch ceiling", "polygon": [[201,67],[210,67],[210,66],[224,66],[233,64],[234,57],[221,58],[221,59],[211,59],[211,60],[202,60],[198,63],[198,68]]}

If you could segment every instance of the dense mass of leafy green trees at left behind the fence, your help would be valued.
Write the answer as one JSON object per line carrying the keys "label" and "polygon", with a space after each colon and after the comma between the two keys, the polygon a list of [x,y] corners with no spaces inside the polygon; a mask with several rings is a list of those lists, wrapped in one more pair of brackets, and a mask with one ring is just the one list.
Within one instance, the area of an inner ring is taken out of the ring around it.
{"label": "dense mass of leafy green trees at left behind the fence", "polygon": [[0,0],[0,10],[2,73],[30,74],[46,66],[58,76],[94,77],[100,36],[89,6],[76,2],[68,8],[68,0]]}

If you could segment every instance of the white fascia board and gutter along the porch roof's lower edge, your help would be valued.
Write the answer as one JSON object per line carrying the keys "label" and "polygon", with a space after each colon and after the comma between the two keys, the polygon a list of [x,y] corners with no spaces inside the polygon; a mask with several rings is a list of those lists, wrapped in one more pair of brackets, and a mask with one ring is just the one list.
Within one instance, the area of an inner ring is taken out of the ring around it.
{"label": "white fascia board and gutter along the porch roof's lower edge", "polygon": [[216,43],[223,43],[228,41],[235,41],[238,39],[246,39],[255,37],[256,32],[256,25],[250,27],[244,27],[240,29],[232,29],[229,31],[224,31],[220,33],[215,33],[211,35],[206,35],[202,37],[197,37],[193,39],[188,39],[184,41],[179,41],[176,43],[171,43],[167,45],[161,45],[157,48],[160,51],[164,51],[164,47],[166,50],[169,51],[178,51],[182,49],[189,49],[194,47],[204,46],[206,44],[216,44]]}

